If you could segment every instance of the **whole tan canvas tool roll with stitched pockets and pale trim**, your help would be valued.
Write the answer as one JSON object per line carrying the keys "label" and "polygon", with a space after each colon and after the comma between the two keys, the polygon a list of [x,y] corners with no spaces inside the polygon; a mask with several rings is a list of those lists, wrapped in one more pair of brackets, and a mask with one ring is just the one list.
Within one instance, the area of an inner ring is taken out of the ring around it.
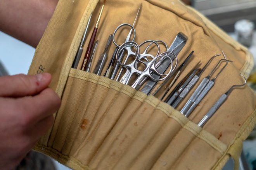
{"label": "whole tan canvas tool roll with stitched pockets and pale trim", "polygon": [[[29,74],[52,74],[50,87],[62,99],[54,124],[35,146],[73,169],[221,169],[232,156],[238,168],[242,141],[256,123],[256,97],[247,85],[234,88],[225,103],[200,128],[197,123],[232,85],[242,84],[253,67],[252,54],[199,12],[178,0],[107,0],[96,39],[92,67],[109,34],[122,23],[135,25],[136,42],[161,39],[170,45],[178,32],[187,43],[177,55],[183,61],[194,50],[177,82],[201,60],[201,67],[223,50],[228,63],[214,87],[186,118],[152,95],[104,76],[71,68],[89,15],[86,46],[103,1],[59,0],[36,48]],[[126,34],[127,35],[127,34]],[[118,37],[125,39],[125,35]],[[115,49],[112,43],[108,54]],[[213,59],[200,80],[223,56]],[[81,59],[82,60],[82,59]],[[78,68],[81,67],[81,61]],[[103,70],[106,69],[106,66]],[[189,93],[193,92],[192,91]],[[188,95],[189,96],[189,95]]]}

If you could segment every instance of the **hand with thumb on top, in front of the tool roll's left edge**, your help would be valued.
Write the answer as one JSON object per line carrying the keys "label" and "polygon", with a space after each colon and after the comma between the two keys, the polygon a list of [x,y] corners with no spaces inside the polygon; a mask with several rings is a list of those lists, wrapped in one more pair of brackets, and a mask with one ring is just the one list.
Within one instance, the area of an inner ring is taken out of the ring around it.
{"label": "hand with thumb on top, in front of the tool roll's left edge", "polygon": [[0,77],[0,169],[13,169],[52,126],[61,100],[49,73]]}

